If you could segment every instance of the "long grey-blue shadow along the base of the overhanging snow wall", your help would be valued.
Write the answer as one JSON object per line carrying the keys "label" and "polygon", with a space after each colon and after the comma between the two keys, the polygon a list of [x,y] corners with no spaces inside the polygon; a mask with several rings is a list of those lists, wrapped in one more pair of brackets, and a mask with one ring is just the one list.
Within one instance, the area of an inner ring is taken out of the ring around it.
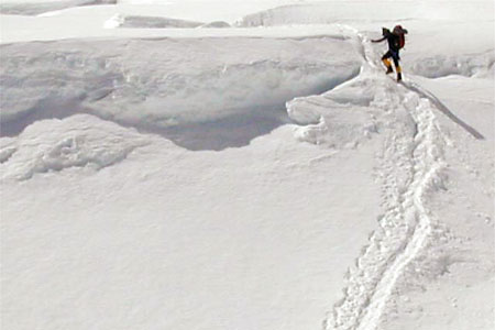
{"label": "long grey-blue shadow along the base of the overhanging snow wall", "polygon": [[[311,89],[310,94],[300,95],[300,97],[322,94],[342,82],[331,79],[327,84]],[[15,120],[4,121],[0,118],[0,138],[16,136],[36,121],[63,120],[74,114],[86,113],[118,123],[124,128],[135,129],[141,133],[158,134],[190,151],[221,151],[228,147],[246,146],[253,139],[270,134],[283,124],[292,123],[293,121],[286,111],[286,101],[256,108],[233,109],[231,114],[209,121],[161,125],[150,121],[107,117],[92,105],[85,105],[80,97],[50,98],[38,101],[25,111],[25,114],[18,117]]]}

